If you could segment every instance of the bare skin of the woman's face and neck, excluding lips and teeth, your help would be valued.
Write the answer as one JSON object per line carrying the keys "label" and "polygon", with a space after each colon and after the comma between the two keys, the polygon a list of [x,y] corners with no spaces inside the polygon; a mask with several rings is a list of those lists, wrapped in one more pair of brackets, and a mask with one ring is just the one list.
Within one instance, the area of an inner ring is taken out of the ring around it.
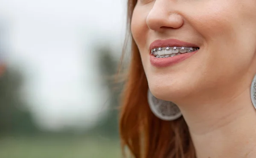
{"label": "bare skin of the woman's face and neck, excluding lips and teeth", "polygon": [[[151,93],[180,107],[198,158],[255,158],[255,0],[138,0],[131,32]],[[177,39],[200,50],[175,65],[149,60],[154,40]]]}

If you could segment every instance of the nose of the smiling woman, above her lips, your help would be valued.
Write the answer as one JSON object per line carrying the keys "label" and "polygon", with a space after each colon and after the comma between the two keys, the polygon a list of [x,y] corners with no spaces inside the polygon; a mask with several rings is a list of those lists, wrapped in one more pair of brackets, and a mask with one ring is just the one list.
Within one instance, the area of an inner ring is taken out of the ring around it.
{"label": "nose of the smiling woman, above her lips", "polygon": [[[172,3],[172,7],[170,4]],[[149,12],[146,23],[148,28],[154,31],[160,31],[163,28],[180,28],[183,23],[183,17],[174,10],[175,3],[168,0],[165,3],[165,0],[155,0],[154,6]]]}

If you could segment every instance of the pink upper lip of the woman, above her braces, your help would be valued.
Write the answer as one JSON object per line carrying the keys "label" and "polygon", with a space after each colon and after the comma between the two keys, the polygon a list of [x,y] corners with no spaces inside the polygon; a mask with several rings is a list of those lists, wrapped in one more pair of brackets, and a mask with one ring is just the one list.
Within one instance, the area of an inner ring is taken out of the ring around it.
{"label": "pink upper lip of the woman, above her braces", "polygon": [[[193,43],[183,42],[176,39],[169,39],[169,40],[155,40],[149,46],[149,50],[154,48],[163,48],[163,47],[198,47]],[[198,47],[199,48],[199,47]]]}

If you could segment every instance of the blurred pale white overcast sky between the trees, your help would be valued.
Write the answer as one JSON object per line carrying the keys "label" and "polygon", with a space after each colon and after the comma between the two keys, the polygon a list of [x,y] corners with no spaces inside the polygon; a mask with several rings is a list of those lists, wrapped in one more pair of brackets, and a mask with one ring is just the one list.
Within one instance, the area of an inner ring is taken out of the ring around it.
{"label": "blurred pale white overcast sky between the trees", "polygon": [[[47,128],[88,125],[107,100],[99,86],[93,43],[120,49],[122,0],[0,0],[9,61],[26,71],[24,93]],[[86,50],[86,51],[85,51]],[[85,58],[84,56],[87,56]]]}

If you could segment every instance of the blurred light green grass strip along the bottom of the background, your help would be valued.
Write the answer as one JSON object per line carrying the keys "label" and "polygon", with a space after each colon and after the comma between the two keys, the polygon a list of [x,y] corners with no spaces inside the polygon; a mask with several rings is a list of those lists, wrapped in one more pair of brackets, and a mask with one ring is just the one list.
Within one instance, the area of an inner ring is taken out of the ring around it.
{"label": "blurred light green grass strip along the bottom of the background", "polygon": [[121,152],[118,140],[99,137],[5,137],[0,158],[121,158]]}

